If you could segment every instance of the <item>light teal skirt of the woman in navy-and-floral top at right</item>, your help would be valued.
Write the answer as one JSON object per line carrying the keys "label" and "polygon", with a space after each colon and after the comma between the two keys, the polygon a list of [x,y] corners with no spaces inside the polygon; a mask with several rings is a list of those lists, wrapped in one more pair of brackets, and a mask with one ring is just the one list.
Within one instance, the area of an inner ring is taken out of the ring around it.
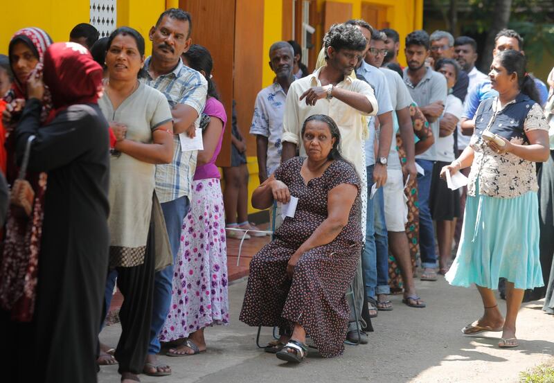
{"label": "light teal skirt of the woman in navy-and-floral top at right", "polygon": [[475,283],[494,290],[499,278],[516,289],[544,286],[537,193],[515,198],[468,195],[460,246],[445,278],[454,286]]}

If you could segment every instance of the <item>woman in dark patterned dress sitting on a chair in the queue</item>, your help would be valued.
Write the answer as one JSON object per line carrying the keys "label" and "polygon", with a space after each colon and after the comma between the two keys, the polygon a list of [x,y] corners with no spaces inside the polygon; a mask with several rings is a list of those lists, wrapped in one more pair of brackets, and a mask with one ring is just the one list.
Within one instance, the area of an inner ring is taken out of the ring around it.
{"label": "woman in dark patterned dress sitting on a chair in the queue", "polygon": [[260,209],[292,197],[298,204],[250,262],[240,313],[250,326],[279,326],[280,339],[265,350],[289,362],[305,358],[306,336],[323,357],[343,353],[345,294],[362,246],[360,181],[339,151],[339,128],[328,116],[310,116],[302,141],[307,158],[283,163],[252,195]]}

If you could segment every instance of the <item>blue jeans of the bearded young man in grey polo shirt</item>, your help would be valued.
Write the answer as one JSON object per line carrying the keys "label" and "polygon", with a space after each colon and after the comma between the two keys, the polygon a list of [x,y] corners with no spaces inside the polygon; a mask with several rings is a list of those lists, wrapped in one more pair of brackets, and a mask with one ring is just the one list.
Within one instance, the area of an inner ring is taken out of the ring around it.
{"label": "blue jeans of the bearded young man in grey polo shirt", "polygon": [[418,173],[418,203],[420,208],[420,255],[423,268],[434,268],[437,263],[435,253],[435,233],[431,209],[429,208],[429,194],[431,193],[431,177],[433,161],[426,159],[415,160],[425,170],[425,175]]}

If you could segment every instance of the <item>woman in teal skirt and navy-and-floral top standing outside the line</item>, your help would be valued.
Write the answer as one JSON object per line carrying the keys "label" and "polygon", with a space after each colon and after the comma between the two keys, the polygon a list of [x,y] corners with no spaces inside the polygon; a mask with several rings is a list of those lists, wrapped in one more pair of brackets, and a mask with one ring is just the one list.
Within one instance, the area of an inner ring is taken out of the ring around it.
{"label": "woman in teal skirt and navy-and-floral top standing outside the line", "polygon": [[[489,75],[499,96],[479,105],[470,145],[441,172],[445,177],[471,166],[461,245],[446,279],[456,286],[475,284],[484,314],[462,332],[501,331],[501,348],[518,346],[515,325],[524,291],[544,285],[534,162],[550,154],[548,125],[525,66],[516,51],[494,57]],[[500,144],[483,133],[496,134]],[[493,292],[501,277],[507,279],[506,319]]]}

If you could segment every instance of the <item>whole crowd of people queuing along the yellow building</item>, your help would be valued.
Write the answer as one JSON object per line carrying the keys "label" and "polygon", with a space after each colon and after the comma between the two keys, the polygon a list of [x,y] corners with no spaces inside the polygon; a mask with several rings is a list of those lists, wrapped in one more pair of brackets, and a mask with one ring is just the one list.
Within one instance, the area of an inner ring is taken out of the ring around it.
{"label": "whole crowd of people queuing along the yellow building", "polygon": [[[215,161],[229,119],[192,24],[184,10],[164,11],[149,57],[137,30],[98,39],[89,24],[60,43],[24,28],[0,57],[0,166],[11,186],[0,328],[14,346],[2,362],[11,382],[96,382],[112,364],[124,383],[170,375],[162,347],[203,353],[206,328],[229,324],[227,240],[265,234],[247,217],[234,113],[222,190]],[[251,260],[240,321],[278,327],[265,351],[279,359],[302,362],[307,337],[323,357],[367,344],[395,292],[425,308],[418,262],[421,280],[477,286],[483,317],[462,332],[502,332],[501,348],[519,344],[526,290],[550,279],[537,294],[554,310],[552,109],[527,73],[523,39],[497,35],[488,75],[471,37],[416,30],[404,44],[406,68],[395,30],[356,19],[325,33],[313,73],[298,44],[269,48],[276,77],[250,128],[252,205],[279,219]],[[202,149],[191,149],[197,134]],[[448,186],[458,172],[467,188]],[[501,280],[506,315],[493,292]],[[116,286],[122,332],[101,344]]]}

